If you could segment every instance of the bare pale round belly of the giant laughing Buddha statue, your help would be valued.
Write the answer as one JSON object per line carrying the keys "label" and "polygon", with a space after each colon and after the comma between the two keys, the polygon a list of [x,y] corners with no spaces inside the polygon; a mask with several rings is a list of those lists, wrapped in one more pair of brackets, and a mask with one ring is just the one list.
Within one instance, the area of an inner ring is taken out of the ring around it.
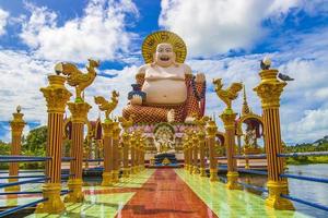
{"label": "bare pale round belly of the giant laughing Buddha statue", "polygon": [[185,81],[144,81],[142,90],[147,93],[147,104],[178,105],[187,99]]}

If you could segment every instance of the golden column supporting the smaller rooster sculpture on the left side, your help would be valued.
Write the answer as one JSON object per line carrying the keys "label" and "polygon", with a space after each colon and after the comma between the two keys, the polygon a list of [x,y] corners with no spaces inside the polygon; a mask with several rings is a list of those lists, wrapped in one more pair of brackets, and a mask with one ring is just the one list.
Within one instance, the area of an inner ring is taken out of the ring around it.
{"label": "golden column supporting the smaller rooster sculpture on the left side", "polygon": [[113,184],[113,126],[114,122],[106,119],[102,123],[104,133],[104,172],[103,172],[103,186],[110,186]]}

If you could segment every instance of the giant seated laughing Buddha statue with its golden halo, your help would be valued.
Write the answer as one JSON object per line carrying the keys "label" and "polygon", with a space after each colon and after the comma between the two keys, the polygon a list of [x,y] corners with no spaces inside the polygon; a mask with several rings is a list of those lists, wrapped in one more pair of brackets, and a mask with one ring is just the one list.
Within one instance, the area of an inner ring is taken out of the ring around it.
{"label": "giant seated laughing Buddha statue with its golden halo", "polygon": [[185,64],[187,49],[174,33],[160,31],[142,44],[145,64],[136,75],[122,116],[136,123],[192,122],[203,116],[204,74],[192,75]]}

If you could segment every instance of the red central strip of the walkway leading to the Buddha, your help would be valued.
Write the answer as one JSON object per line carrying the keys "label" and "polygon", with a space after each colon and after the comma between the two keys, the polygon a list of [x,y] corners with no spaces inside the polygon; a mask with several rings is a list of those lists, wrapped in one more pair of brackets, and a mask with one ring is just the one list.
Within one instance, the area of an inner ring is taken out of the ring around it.
{"label": "red central strip of the walkway leading to the Buddha", "polygon": [[173,169],[157,169],[116,217],[214,218],[218,216]]}

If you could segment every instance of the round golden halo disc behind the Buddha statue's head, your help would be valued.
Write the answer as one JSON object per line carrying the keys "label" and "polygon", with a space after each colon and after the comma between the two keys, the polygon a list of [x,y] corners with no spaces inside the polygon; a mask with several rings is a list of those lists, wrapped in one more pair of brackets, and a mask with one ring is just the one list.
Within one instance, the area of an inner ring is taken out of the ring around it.
{"label": "round golden halo disc behind the Buddha statue's head", "polygon": [[183,63],[186,60],[187,47],[185,41],[176,34],[168,31],[154,32],[145,37],[142,43],[142,57],[145,63],[152,63],[153,53],[156,52],[159,44],[167,43],[173,46],[173,51],[176,55],[175,61]]}

